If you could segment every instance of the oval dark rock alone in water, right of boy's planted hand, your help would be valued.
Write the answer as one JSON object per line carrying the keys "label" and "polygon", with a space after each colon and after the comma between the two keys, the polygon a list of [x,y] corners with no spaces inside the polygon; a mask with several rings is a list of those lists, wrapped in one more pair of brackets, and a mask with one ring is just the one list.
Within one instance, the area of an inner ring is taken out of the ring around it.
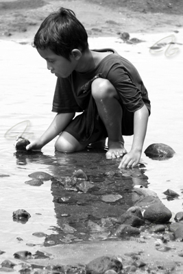
{"label": "oval dark rock alone in water, right of boy's planted hand", "polygon": [[158,158],[172,158],[175,154],[175,151],[171,147],[169,147],[169,145],[155,143],[149,145],[149,147],[145,149],[144,153],[149,158],[158,160]]}

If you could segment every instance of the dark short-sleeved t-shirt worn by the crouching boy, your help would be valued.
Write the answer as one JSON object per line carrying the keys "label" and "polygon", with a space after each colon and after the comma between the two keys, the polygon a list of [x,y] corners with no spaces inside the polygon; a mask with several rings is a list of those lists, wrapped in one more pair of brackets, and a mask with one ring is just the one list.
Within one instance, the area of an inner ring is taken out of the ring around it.
{"label": "dark short-sleeved t-shirt worn by the crouching boy", "polygon": [[[99,77],[108,79],[119,94],[123,108],[123,129],[125,123],[133,121],[134,112],[142,108],[144,103],[150,114],[151,106],[148,93],[134,65],[114,49],[95,49],[94,51],[110,51],[112,54],[103,58],[92,71],[87,73],[73,71],[67,78],[58,77],[52,111],[58,113],[86,111],[90,101],[90,90],[84,90],[83,86],[99,75]],[[127,129],[124,135],[132,134],[133,123],[130,131]]]}

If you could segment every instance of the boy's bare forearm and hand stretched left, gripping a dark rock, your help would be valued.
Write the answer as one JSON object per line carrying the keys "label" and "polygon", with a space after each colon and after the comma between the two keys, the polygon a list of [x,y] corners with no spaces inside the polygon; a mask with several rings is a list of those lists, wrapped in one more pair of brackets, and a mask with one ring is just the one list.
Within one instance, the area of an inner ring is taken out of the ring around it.
{"label": "boy's bare forearm and hand stretched left, gripping a dark rock", "polygon": [[71,122],[74,116],[75,113],[58,113],[46,132],[42,134],[40,138],[32,141],[29,145],[27,145],[26,149],[42,149],[42,147],[44,147],[48,142],[53,140],[53,138],[58,136],[58,134],[64,130],[64,128]]}

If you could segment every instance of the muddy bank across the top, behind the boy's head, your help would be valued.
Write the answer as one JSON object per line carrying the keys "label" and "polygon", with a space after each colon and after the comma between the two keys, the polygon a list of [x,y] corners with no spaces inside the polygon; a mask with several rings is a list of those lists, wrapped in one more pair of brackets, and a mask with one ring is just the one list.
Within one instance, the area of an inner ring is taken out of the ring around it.
{"label": "muddy bank across the top, behind the boy's head", "polygon": [[0,38],[32,41],[42,20],[60,6],[75,12],[90,37],[170,32],[183,26],[182,1],[1,0]]}

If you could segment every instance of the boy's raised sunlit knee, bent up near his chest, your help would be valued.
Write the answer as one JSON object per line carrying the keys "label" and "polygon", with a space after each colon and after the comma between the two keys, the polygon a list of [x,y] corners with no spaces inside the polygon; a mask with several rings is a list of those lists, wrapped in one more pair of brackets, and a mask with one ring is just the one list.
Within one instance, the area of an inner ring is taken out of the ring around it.
{"label": "boy's raised sunlit knee, bent up near his chest", "polygon": [[114,86],[108,79],[103,78],[97,78],[93,81],[91,92],[95,100],[117,96],[117,90]]}

